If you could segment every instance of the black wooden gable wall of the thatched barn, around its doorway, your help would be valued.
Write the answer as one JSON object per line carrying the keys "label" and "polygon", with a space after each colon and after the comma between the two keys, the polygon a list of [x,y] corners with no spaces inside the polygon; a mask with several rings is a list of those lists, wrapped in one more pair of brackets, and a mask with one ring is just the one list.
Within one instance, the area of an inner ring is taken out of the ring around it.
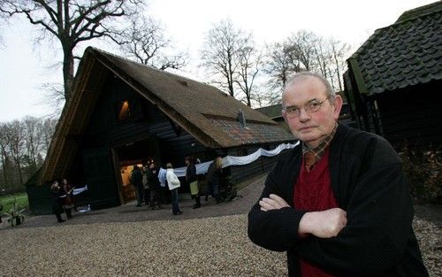
{"label": "black wooden gable wall of the thatched barn, around its doorway", "polygon": [[[129,101],[131,117],[126,121],[119,121],[117,104],[126,100]],[[148,139],[149,142],[146,141],[146,143],[157,142],[158,150],[155,152],[159,157],[154,158],[160,159],[156,160],[157,165],[160,166],[165,166],[167,162],[171,162],[174,167],[183,166],[185,156],[205,150],[193,136],[175,125],[156,106],[150,104],[148,100],[128,87],[123,81],[118,78],[108,78],[95,103],[86,132],[79,140],[79,151],[69,173],[70,179],[76,184],[85,184],[87,182],[86,176],[89,181],[92,180],[91,176],[96,177],[96,183],[91,185],[91,188],[83,196],[88,198],[85,199],[85,202],[91,202],[95,208],[118,204],[118,192],[115,194],[110,192],[108,196],[102,196],[99,193],[99,190],[103,190],[103,188],[109,188],[109,190],[117,188],[117,180],[115,177],[110,180],[109,166],[106,165],[106,167],[103,163],[111,160],[110,149],[124,151],[122,148],[136,142],[142,141],[141,143],[144,143],[144,140]],[[152,147],[155,148],[155,146]],[[109,154],[105,153],[106,149]],[[86,169],[90,169],[91,166],[100,167],[100,165],[95,165],[96,162],[90,155],[96,155],[101,159],[105,158],[99,162],[103,168],[96,168],[92,173],[88,170],[87,173]],[[106,158],[103,155],[108,156]],[[146,157],[142,155],[146,155]],[[140,158],[152,158],[148,155],[143,152],[140,154]],[[85,157],[88,159],[85,160]],[[115,166],[118,167],[118,165]],[[98,175],[104,172],[106,175],[100,179]],[[104,181],[106,183],[103,183]]]}

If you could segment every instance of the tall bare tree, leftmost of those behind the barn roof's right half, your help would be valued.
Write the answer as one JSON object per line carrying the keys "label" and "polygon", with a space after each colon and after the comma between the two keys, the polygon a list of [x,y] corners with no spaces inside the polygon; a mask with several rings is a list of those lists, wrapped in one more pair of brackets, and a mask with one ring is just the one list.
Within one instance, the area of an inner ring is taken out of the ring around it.
{"label": "tall bare tree, leftmost of those behind the barn roof's right half", "polygon": [[238,55],[250,36],[235,29],[229,19],[215,24],[205,36],[201,51],[202,66],[214,78],[211,82],[225,88],[231,96],[235,96],[234,84],[240,65]]}

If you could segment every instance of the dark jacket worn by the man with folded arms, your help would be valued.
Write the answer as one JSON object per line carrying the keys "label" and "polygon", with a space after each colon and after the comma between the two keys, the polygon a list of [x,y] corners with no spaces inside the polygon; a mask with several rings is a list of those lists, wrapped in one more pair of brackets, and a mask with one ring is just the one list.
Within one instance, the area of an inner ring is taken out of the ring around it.
{"label": "dark jacket worn by the man with folded arms", "polygon": [[[261,198],[277,194],[293,207],[301,153],[298,146],[281,154]],[[336,276],[428,276],[411,227],[408,181],[390,143],[339,125],[330,145],[329,169],[331,189],[347,212],[347,226],[338,236],[301,239],[304,211],[262,212],[256,203],[248,213],[250,239],[268,250],[286,250],[290,276],[300,276],[299,257]]]}

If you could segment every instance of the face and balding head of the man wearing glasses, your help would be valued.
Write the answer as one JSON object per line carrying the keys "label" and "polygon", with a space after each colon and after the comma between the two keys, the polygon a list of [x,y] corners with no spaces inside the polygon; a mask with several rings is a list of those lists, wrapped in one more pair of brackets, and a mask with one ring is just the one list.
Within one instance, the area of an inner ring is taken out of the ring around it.
{"label": "face and balding head of the man wearing glasses", "polygon": [[[282,98],[283,107],[296,106],[301,108],[312,100],[323,101],[327,97],[326,88],[322,81],[315,77],[304,77],[286,88]],[[306,112],[304,108],[298,117],[290,118],[283,113],[284,119],[292,134],[305,142],[310,148],[315,148],[326,135],[329,135],[339,118],[342,99],[335,97],[334,104],[325,100],[317,112]]]}

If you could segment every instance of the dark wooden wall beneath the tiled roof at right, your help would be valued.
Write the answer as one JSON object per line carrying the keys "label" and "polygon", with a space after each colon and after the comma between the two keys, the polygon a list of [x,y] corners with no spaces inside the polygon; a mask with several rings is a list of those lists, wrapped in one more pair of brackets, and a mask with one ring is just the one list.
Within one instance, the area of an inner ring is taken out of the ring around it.
{"label": "dark wooden wall beneath the tiled roof at right", "polygon": [[377,98],[385,139],[395,147],[442,142],[442,81],[418,85]]}

